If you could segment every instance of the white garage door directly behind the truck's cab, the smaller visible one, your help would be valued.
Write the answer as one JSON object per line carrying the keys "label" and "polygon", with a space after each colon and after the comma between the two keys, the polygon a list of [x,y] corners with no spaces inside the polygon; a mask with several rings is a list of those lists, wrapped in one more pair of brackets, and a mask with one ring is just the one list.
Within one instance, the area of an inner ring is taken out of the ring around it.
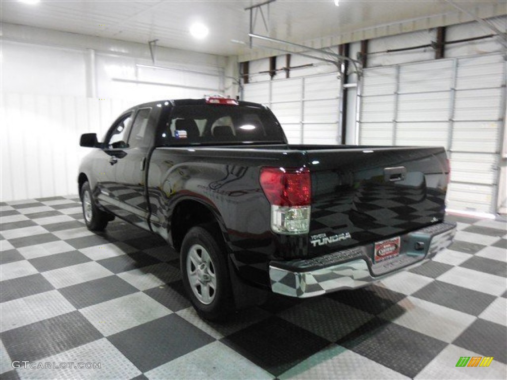
{"label": "white garage door directly behind the truck's cab, the smaller visible one", "polygon": [[243,99],[268,105],[291,144],[337,144],[340,86],[336,73],[249,83]]}

